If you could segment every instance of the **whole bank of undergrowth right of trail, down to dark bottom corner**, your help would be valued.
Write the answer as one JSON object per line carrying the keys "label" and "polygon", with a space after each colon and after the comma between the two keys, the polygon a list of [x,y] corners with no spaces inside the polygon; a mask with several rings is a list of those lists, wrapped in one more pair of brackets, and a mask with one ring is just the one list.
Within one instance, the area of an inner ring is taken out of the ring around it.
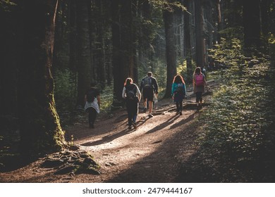
{"label": "whole bank of undergrowth right of trail, down to dark bottom corner", "polygon": [[274,182],[275,70],[268,61],[236,66],[200,116],[200,149],[181,182]]}

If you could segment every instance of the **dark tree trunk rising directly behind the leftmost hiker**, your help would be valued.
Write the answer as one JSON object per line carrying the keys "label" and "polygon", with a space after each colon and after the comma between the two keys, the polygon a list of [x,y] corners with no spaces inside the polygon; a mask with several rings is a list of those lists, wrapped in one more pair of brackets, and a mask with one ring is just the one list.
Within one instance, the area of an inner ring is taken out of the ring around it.
{"label": "dark tree trunk rising directly behind the leftmost hiker", "polygon": [[89,31],[89,0],[76,2],[77,21],[78,21],[78,106],[84,106],[84,96],[90,87],[92,68],[91,68],[91,49]]}

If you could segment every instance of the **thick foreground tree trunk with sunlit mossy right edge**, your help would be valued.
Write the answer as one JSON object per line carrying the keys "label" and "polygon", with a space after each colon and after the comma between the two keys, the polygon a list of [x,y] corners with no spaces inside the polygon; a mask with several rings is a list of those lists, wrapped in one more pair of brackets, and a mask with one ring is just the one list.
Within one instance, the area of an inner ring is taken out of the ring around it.
{"label": "thick foreground tree trunk with sunlit mossy right edge", "polygon": [[21,151],[56,151],[65,144],[54,102],[51,63],[57,0],[23,2],[23,59],[18,106]]}

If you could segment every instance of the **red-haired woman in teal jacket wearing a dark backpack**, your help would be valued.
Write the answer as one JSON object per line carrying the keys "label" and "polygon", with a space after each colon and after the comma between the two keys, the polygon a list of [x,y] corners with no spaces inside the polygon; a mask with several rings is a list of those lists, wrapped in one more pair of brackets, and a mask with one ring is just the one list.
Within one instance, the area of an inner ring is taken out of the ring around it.
{"label": "red-haired woman in teal jacket wearing a dark backpack", "polygon": [[181,75],[176,75],[173,77],[171,96],[173,101],[176,102],[176,115],[183,115],[183,98],[185,98],[186,87],[183,77]]}

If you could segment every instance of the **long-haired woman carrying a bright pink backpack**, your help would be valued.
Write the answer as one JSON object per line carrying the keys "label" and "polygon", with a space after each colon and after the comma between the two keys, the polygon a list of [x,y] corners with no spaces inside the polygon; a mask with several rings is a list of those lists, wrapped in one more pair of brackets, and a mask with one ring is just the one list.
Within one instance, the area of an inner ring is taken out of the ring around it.
{"label": "long-haired woman carrying a bright pink backpack", "polygon": [[207,88],[207,82],[200,67],[195,68],[193,74],[193,87],[194,93],[196,94],[197,109],[199,110],[202,108],[202,93],[204,93],[204,87]]}

